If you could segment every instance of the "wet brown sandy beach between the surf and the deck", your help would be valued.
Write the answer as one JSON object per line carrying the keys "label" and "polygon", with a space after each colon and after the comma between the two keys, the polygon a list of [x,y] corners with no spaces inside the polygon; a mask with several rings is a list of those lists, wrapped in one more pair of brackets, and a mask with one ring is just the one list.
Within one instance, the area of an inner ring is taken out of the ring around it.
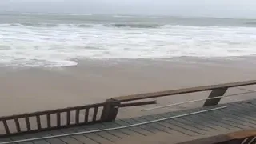
{"label": "wet brown sandy beach between the surf and the deck", "polygon": [[[22,114],[68,106],[104,102],[128,94],[173,90],[226,82],[256,79],[254,57],[232,59],[137,59],[83,60],[77,66],[58,68],[1,67],[0,115]],[[256,90],[256,86],[246,86]],[[245,92],[237,88],[226,94]],[[157,106],[206,98],[210,92],[158,98]],[[222,99],[222,102],[254,98],[252,94]],[[202,106],[202,102],[176,106],[179,110]],[[118,118],[152,114],[164,110],[140,112],[140,106],[122,109]]]}

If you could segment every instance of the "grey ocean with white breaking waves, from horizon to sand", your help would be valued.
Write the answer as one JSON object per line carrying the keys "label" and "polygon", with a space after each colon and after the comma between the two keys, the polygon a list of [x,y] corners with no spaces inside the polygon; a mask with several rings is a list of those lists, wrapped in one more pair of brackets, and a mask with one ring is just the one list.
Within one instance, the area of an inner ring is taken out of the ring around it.
{"label": "grey ocean with white breaking waves, from horizon to sand", "polygon": [[77,59],[230,58],[256,54],[256,19],[0,14],[0,64],[59,67]]}

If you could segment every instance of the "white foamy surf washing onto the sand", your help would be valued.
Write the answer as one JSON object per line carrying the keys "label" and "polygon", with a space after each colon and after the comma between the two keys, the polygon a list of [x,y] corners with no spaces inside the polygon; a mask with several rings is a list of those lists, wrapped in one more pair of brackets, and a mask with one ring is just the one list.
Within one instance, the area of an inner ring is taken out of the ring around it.
{"label": "white foamy surf washing onto the sand", "polygon": [[0,24],[0,64],[74,66],[78,58],[256,54],[256,27]]}

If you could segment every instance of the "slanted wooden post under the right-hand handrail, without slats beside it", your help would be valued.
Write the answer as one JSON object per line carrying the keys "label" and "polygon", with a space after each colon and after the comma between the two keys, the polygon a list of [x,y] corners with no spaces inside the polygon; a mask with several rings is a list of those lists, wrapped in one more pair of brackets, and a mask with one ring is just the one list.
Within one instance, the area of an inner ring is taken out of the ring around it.
{"label": "slanted wooden post under the right-hand handrail, without slats beside it", "polygon": [[227,87],[222,87],[222,88],[212,90],[208,98],[213,98],[213,99],[207,99],[203,106],[218,105],[218,102],[220,102],[222,98],[215,98],[215,97],[223,96],[226,93],[227,89],[228,89]]}

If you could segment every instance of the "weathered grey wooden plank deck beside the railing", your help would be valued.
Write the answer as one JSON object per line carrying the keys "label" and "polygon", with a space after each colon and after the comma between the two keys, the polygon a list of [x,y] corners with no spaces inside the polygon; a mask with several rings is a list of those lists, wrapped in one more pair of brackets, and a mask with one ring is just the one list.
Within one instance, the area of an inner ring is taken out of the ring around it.
{"label": "weathered grey wooden plank deck beside the railing", "polygon": [[35,134],[22,134],[9,138],[0,138],[1,142],[46,137],[58,134],[69,134],[86,130],[98,130],[118,126],[129,126],[140,122],[169,118],[170,116],[189,114],[200,110],[227,106],[224,109],[193,114],[180,118],[172,118],[162,122],[153,122],[142,126],[134,126],[120,130],[109,130],[98,133],[78,134],[60,138],[46,138],[38,141],[19,142],[21,144],[100,144],[100,143],[178,143],[196,138],[206,138],[218,134],[226,134],[238,130],[256,128],[256,99],[234,102],[218,106],[206,106],[193,110],[182,110],[164,114],[148,115],[138,118],[102,122],[94,125],[63,128]]}

